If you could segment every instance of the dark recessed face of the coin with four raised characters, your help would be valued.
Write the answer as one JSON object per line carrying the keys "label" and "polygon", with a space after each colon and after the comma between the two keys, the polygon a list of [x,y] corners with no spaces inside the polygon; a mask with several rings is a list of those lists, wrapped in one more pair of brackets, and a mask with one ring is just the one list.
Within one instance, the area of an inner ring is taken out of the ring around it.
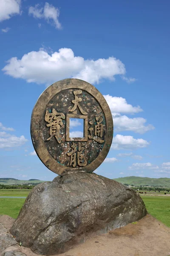
{"label": "dark recessed face of the coin with four raised characters", "polygon": [[[69,100],[67,96],[71,94],[72,99]],[[82,90],[69,89],[66,96],[62,93],[61,97],[60,99],[57,96],[57,100],[51,101],[56,102],[55,105],[53,104],[51,109],[48,106],[48,110],[45,112],[44,119],[47,122],[46,127],[49,128],[49,137],[45,138],[45,141],[50,141],[52,148],[57,149],[58,146],[55,146],[53,139],[55,137],[57,143],[62,145],[59,156],[59,163],[62,163],[62,165],[72,168],[86,166],[95,159],[95,154],[98,155],[102,150],[100,145],[105,143],[105,115],[102,113],[99,104],[95,105],[95,99],[88,95],[87,92],[82,93]],[[60,106],[58,102],[60,102]],[[73,107],[71,102],[74,104]],[[61,113],[62,109],[63,112]],[[84,119],[83,137],[70,137],[70,118]],[[64,119],[65,121],[63,122]],[[51,146],[48,144],[50,152]],[[94,154],[94,152],[96,153]]]}

